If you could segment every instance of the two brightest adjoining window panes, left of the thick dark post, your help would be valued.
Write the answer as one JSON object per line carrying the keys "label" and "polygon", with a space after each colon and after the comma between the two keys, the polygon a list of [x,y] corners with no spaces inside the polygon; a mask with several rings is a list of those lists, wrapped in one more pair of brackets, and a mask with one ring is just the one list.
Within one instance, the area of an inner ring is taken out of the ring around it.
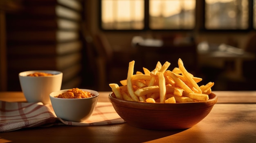
{"label": "two brightest adjoining window panes, left of the thick dark post", "polygon": [[193,29],[195,0],[101,0],[100,21],[105,30]]}

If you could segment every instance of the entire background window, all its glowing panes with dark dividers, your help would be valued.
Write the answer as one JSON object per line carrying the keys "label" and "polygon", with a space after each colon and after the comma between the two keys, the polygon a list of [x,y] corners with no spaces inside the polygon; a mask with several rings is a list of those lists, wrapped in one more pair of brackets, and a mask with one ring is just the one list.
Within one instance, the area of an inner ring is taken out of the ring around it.
{"label": "entire background window, all its glowing panes with dark dividers", "polygon": [[100,7],[103,30],[256,29],[256,0],[100,0]]}

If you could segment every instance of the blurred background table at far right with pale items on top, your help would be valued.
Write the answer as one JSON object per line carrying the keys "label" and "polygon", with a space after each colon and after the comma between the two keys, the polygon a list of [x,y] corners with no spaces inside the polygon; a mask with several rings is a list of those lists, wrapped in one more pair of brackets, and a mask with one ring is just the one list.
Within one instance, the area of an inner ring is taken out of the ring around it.
{"label": "blurred background table at far right with pale items on top", "polygon": [[230,76],[243,77],[243,61],[254,60],[255,54],[244,51],[241,48],[236,48],[226,44],[208,44],[202,42],[198,44],[198,62],[200,65],[212,65],[221,68],[227,62],[234,63],[234,70],[229,72]]}

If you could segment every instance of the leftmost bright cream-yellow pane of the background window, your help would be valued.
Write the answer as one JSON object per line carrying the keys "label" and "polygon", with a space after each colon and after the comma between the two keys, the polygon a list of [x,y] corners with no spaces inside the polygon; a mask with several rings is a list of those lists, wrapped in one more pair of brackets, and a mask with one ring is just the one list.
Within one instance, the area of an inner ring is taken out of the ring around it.
{"label": "leftmost bright cream-yellow pane of the background window", "polygon": [[144,28],[144,0],[101,0],[103,29]]}

